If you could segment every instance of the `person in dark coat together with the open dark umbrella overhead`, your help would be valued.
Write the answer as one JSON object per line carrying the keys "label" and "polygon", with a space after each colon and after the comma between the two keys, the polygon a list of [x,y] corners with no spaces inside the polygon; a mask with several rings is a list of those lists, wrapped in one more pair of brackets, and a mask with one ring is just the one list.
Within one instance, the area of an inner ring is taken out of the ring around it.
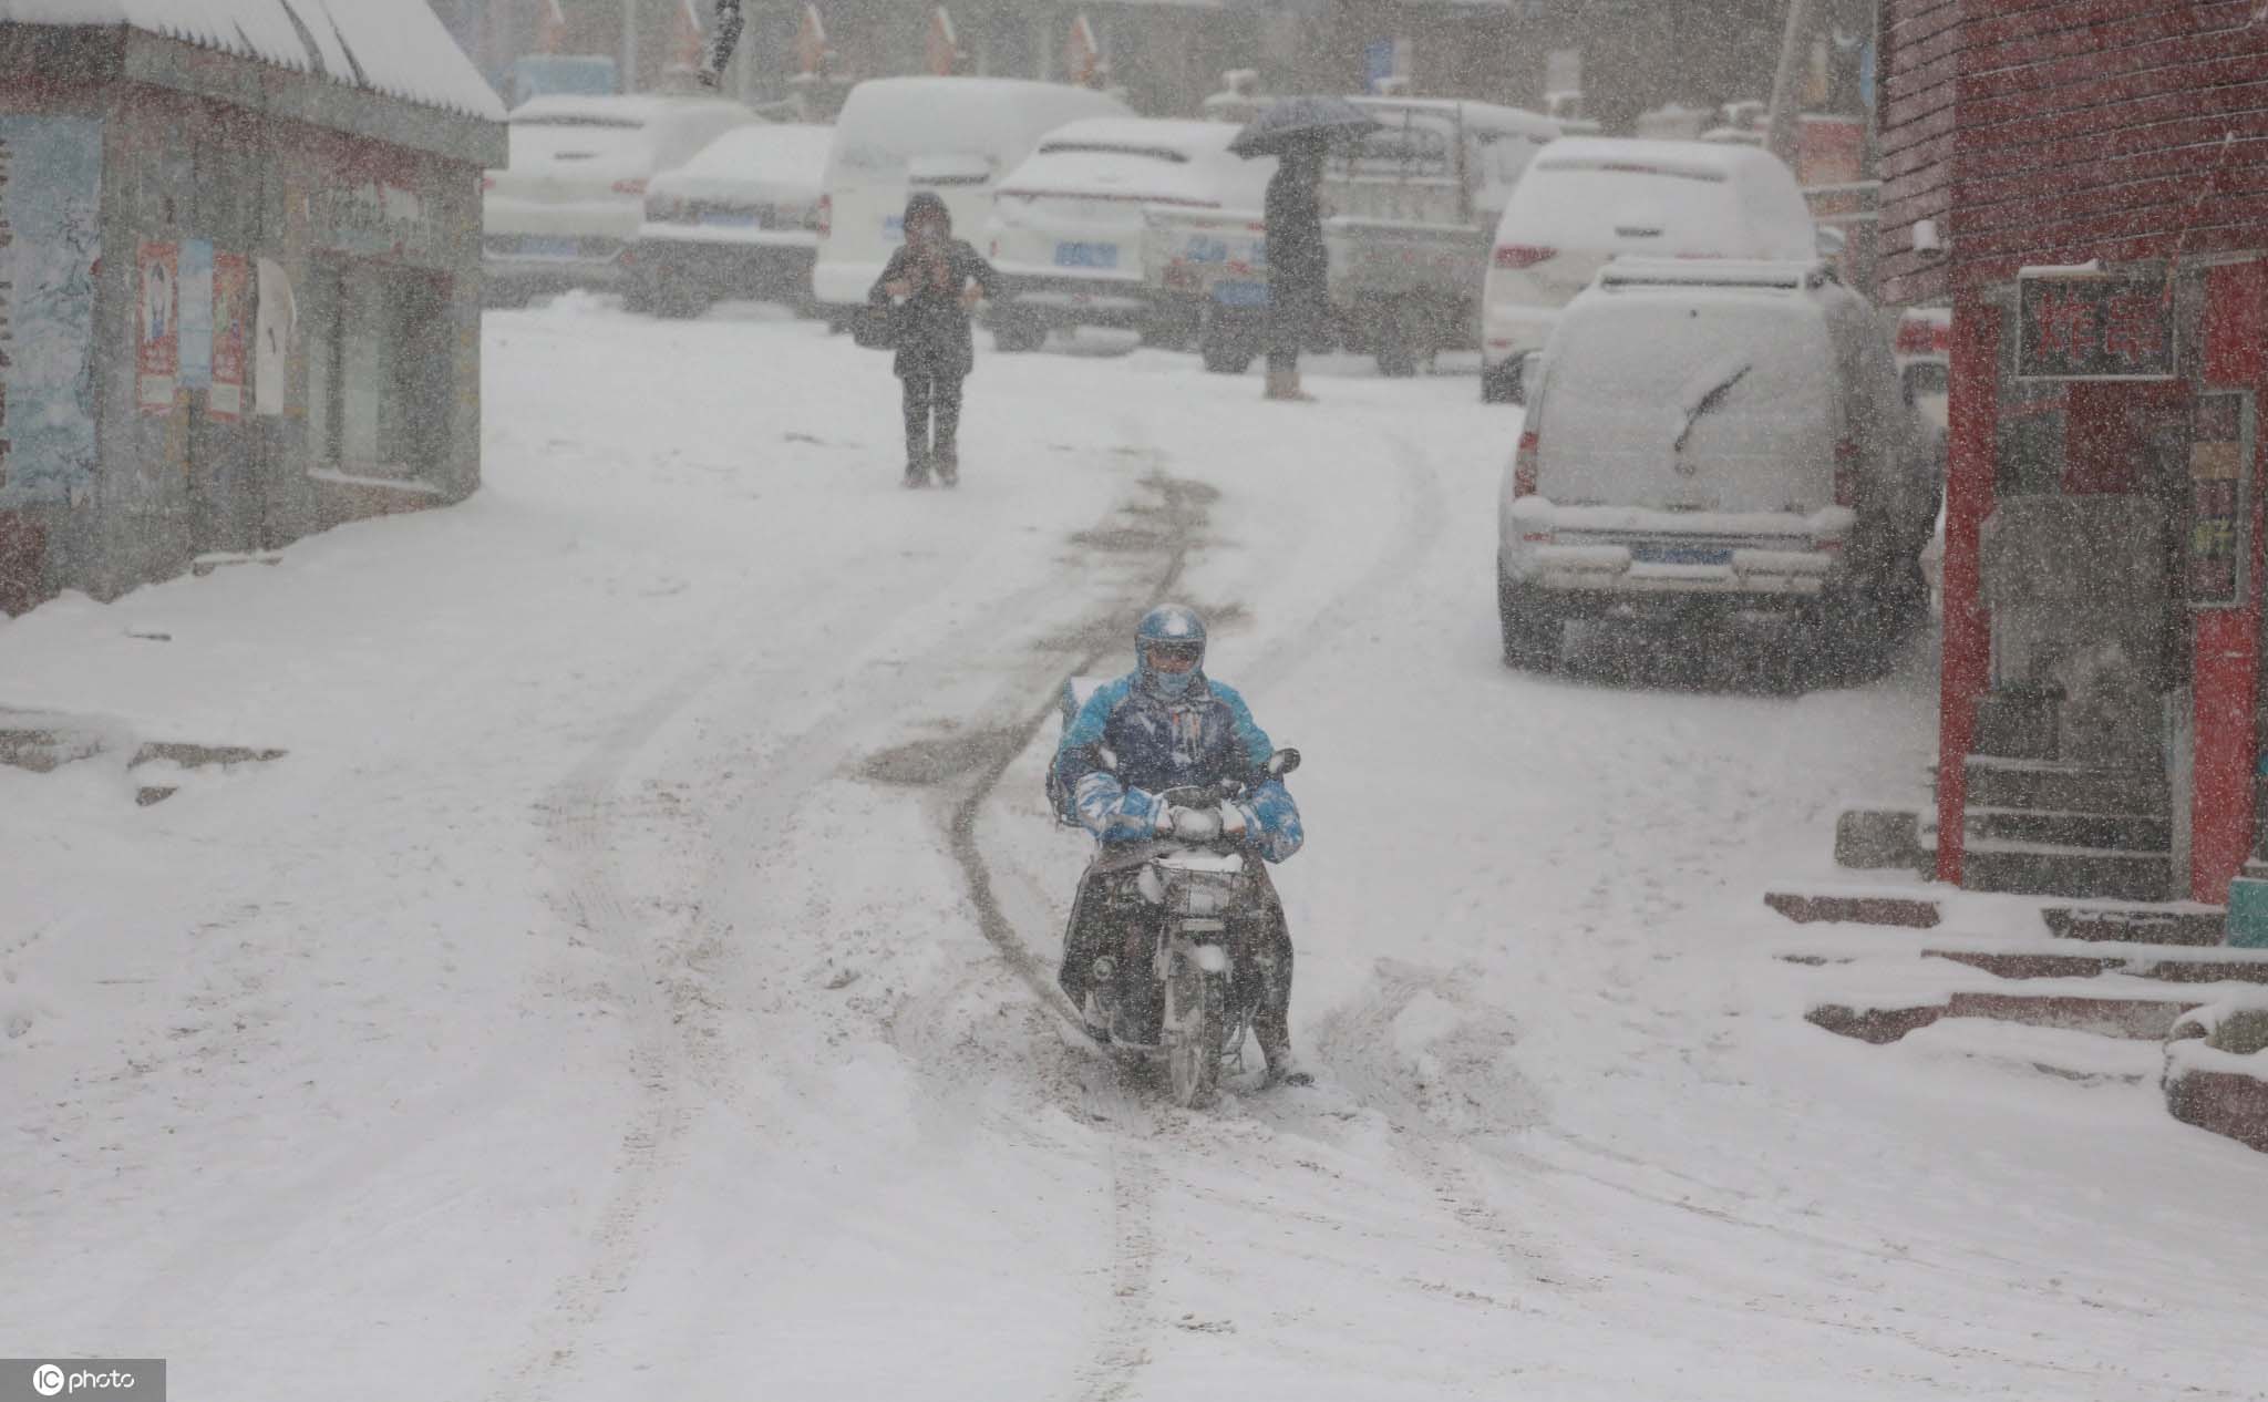
{"label": "person in dark coat together with the open dark umbrella overhead", "polygon": [[1313,399],[1300,388],[1300,345],[1331,311],[1331,254],[1322,243],[1322,159],[1379,123],[1345,98],[1288,98],[1256,116],[1229,150],[1277,157],[1268,179],[1268,399]]}

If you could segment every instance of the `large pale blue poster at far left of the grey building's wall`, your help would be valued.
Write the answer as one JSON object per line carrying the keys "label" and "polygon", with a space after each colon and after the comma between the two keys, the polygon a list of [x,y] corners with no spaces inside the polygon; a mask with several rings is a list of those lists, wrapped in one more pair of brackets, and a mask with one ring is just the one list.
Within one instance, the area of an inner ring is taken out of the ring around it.
{"label": "large pale blue poster at far left of the grey building's wall", "polygon": [[95,485],[102,123],[0,116],[0,510]]}

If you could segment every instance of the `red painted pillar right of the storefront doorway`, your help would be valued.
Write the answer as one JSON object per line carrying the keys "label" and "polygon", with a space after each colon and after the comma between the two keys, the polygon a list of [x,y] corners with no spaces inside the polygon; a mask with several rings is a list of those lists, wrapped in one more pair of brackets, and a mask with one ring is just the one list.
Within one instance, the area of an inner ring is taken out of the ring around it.
{"label": "red painted pillar right of the storefront doorway", "polygon": [[[2204,388],[2250,388],[2261,395],[2268,333],[2268,265],[2243,263],[2207,272]],[[2252,851],[2252,712],[2259,694],[2261,637],[2261,479],[2252,467],[2252,578],[2243,608],[2195,615],[2195,780],[2191,789],[2189,882],[2198,901],[2229,898]]]}

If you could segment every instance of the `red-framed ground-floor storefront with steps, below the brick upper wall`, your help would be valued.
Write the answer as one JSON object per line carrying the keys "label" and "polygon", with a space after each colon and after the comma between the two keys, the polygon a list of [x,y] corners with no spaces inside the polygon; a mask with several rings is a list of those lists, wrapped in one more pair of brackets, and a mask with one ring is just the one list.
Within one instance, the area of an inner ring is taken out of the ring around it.
{"label": "red-framed ground-floor storefront with steps, below the brick upper wall", "polygon": [[2218,254],[1957,295],[1944,880],[2220,903],[2250,858],[2263,288]]}

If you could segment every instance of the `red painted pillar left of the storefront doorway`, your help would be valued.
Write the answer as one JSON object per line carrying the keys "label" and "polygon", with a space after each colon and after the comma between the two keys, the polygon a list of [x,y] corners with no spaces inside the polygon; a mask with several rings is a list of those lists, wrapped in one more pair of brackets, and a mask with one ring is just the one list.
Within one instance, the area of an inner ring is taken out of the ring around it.
{"label": "red painted pillar left of the storefront doorway", "polygon": [[1991,515],[2000,420],[2000,313],[1975,293],[1953,304],[1946,447],[1946,637],[1937,669],[1937,880],[1962,880],[1962,814],[1978,699],[1991,687],[1991,631],[1978,529]]}

